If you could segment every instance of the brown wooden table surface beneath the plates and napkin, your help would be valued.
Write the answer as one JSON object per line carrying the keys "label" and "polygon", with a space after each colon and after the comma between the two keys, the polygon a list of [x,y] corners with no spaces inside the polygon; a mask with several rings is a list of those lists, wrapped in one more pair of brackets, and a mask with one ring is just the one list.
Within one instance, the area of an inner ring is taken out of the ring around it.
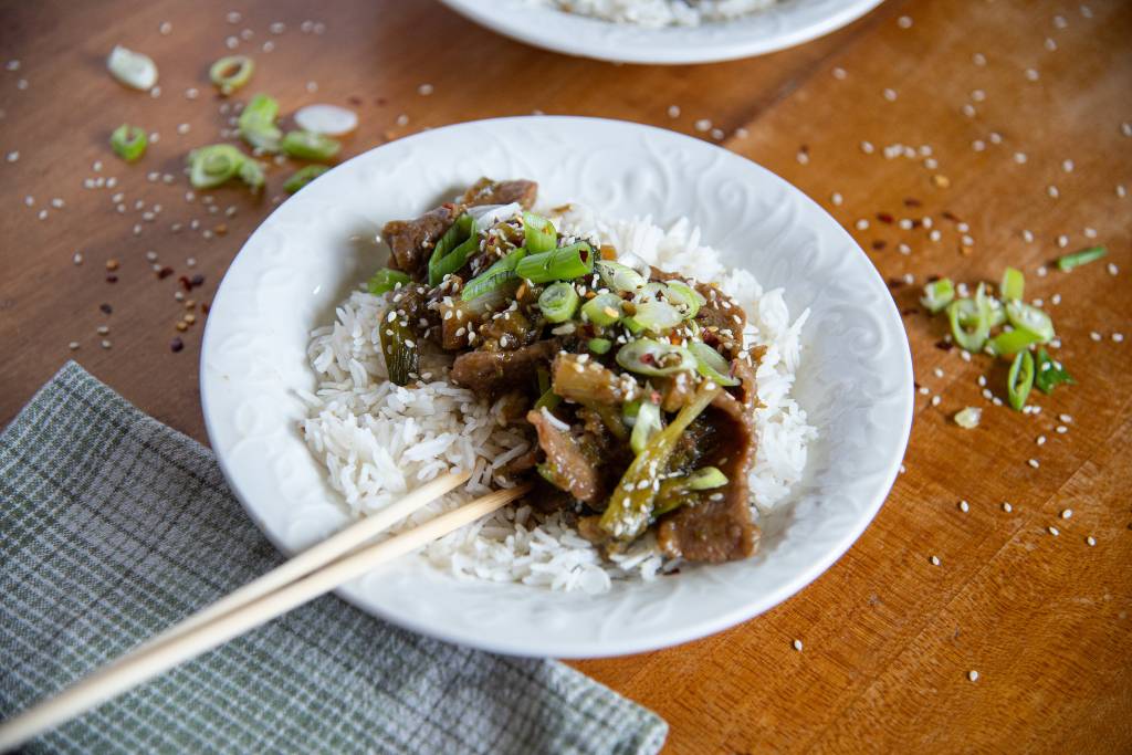
{"label": "brown wooden table surface beneath the plates and napkin", "polygon": [[[889,0],[801,48],[660,68],[530,49],[423,1],[3,3],[0,55],[18,70],[0,71],[0,422],[72,358],[205,440],[200,303],[290,172],[274,170],[259,200],[239,188],[213,192],[212,207],[186,197],[185,154],[226,127],[207,66],[229,44],[257,60],[249,91],[284,112],[354,108],[349,154],[535,110],[713,139],[818,200],[891,281],[923,386],[907,472],[852,549],[779,608],[679,647],[575,666],[667,719],[670,753],[1129,752],[1129,40],[1122,0]],[[115,43],[157,60],[160,96],[105,74]],[[122,121],[160,135],[136,165],[106,146]],[[937,241],[899,222],[924,217]],[[1107,259],[1041,276],[1094,243]],[[174,274],[158,280],[148,251]],[[1040,414],[986,401],[977,380],[1003,396],[1003,367],[935,348],[943,326],[916,308],[928,275],[997,281],[1005,265],[1054,314],[1078,379],[1038,396]],[[178,278],[195,274],[198,321],[179,334]],[[985,410],[975,430],[950,421],[967,405]]]}

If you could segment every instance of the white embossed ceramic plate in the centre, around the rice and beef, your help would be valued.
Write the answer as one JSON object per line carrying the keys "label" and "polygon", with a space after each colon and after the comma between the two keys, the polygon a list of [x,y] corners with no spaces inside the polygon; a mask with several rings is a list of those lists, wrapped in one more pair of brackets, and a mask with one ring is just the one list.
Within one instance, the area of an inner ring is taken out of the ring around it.
{"label": "white embossed ceramic plate in the centre, around the rice and beef", "polygon": [[248,513],[295,552],[346,522],[308,452],[295,388],[312,391],[308,333],[384,260],[388,220],[419,215],[481,175],[531,178],[548,201],[612,216],[688,215],[726,263],[811,309],[795,395],[820,437],[756,557],[684,568],[601,595],[457,581],[410,556],[340,594],[410,629],[521,655],[598,657],[672,645],[755,616],[840,557],[895,479],[911,423],[911,358],[868,258],[814,201],[754,163],[657,128],[508,118],[424,131],[340,165],[284,203],[232,263],[200,363],[208,437]]}

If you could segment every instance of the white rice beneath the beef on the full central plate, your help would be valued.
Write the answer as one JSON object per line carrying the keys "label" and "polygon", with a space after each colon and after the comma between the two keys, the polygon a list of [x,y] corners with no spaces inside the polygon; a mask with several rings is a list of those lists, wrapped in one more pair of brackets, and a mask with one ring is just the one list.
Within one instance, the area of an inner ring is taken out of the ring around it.
{"label": "white rice beneath the beef on the full central plate", "polygon": [[[687,220],[664,231],[648,217],[607,222],[582,207],[556,220],[564,232],[597,234],[619,255],[715,281],[747,311],[745,344],[765,349],[756,370],[761,406],[755,411],[752,511],[757,517],[781,503],[801,478],[807,446],[816,436],[790,396],[808,310],[791,323],[781,289],[763,291],[747,271],[724,269]],[[447,360],[440,354],[422,355],[421,387],[388,383],[378,346],[378,320],[388,295],[355,291],[337,308],[333,325],[311,333],[308,357],[319,385],[315,395],[301,394],[310,405],[302,431],[326,466],[329,484],[359,515],[387,506],[443,471],[472,470],[466,488],[422,508],[404,529],[486,492],[494,470],[528,451],[530,441],[522,431],[499,426],[496,406],[448,383]],[[540,516],[525,505],[453,532],[423,552],[436,567],[462,578],[589,593],[608,590],[612,580],[652,580],[675,566],[663,563],[651,535],[607,561],[559,514]]]}

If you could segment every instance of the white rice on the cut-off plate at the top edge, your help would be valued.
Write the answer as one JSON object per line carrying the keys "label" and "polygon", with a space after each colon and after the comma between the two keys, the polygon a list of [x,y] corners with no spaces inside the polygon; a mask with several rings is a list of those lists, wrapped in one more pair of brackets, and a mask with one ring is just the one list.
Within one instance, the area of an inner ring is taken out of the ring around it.
{"label": "white rice on the cut-off plate at the top edge", "polygon": [[526,0],[529,5],[649,28],[700,26],[766,10],[778,0]]}

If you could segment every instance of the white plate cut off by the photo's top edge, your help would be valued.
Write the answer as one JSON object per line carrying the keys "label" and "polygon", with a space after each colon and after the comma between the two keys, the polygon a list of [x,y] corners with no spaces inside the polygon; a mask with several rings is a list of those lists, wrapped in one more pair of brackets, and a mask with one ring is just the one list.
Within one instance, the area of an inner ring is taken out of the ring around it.
{"label": "white plate cut off by the photo's top edge", "polygon": [[762,55],[846,26],[881,0],[782,0],[763,11],[695,27],[644,28],[525,0],[441,0],[494,32],[568,55],[625,63],[710,63]]}

